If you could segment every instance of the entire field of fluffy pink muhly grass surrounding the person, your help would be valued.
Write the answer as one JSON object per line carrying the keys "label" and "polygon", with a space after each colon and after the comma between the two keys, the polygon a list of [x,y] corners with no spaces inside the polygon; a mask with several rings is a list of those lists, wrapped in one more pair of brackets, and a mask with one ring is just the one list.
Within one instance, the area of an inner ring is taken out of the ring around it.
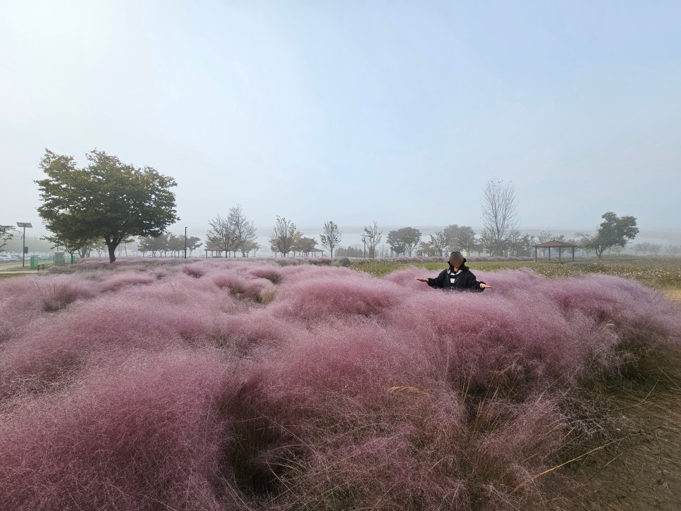
{"label": "entire field of fluffy pink muhly grass surrounding the person", "polygon": [[0,281],[0,507],[541,508],[584,419],[566,396],[680,343],[621,278],[450,294],[296,262]]}

